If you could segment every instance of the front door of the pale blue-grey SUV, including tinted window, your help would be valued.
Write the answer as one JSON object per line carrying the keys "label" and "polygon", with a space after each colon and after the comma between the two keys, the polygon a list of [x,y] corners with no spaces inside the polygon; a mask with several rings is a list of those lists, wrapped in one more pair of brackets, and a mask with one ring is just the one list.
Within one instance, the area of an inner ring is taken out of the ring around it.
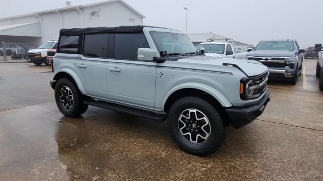
{"label": "front door of the pale blue-grey SUV, including tinted window", "polygon": [[143,33],[115,34],[114,53],[107,65],[107,92],[112,101],[153,109],[157,63],[138,61],[138,48],[149,48]]}

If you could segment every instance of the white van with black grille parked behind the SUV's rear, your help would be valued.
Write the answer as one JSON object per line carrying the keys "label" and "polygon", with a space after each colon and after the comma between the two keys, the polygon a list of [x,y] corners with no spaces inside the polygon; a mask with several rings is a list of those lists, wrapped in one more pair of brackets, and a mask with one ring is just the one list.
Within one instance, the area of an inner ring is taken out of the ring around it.
{"label": "white van with black grille parked behind the SUV's rear", "polygon": [[49,65],[49,62],[47,62],[46,59],[47,51],[49,49],[56,49],[57,43],[57,40],[50,40],[40,45],[37,49],[29,50],[27,52],[27,61],[30,60],[35,65],[40,65],[42,63]]}

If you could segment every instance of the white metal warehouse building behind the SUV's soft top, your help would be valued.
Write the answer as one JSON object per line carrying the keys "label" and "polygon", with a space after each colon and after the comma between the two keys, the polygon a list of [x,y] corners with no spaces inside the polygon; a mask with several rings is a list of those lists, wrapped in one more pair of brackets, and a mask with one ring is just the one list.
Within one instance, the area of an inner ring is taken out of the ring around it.
{"label": "white metal warehouse building behind the SUV's soft top", "polygon": [[142,25],[143,18],[141,13],[123,0],[67,6],[0,18],[0,43],[41,44],[58,39],[62,28]]}

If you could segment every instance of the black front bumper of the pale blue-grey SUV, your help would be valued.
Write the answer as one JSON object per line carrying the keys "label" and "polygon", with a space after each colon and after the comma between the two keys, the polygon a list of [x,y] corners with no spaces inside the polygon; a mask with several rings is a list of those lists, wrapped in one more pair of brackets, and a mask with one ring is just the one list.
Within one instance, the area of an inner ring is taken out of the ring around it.
{"label": "black front bumper of the pale blue-grey SUV", "polygon": [[229,116],[230,123],[236,129],[251,123],[263,113],[267,103],[270,102],[270,100],[271,95],[270,92],[267,91],[265,95],[263,95],[263,97],[254,105],[227,108],[226,112]]}

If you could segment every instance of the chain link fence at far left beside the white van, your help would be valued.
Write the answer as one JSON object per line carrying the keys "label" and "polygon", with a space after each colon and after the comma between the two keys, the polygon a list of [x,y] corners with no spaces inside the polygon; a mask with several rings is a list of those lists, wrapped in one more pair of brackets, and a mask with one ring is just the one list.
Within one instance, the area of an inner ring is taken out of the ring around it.
{"label": "chain link fence at far left beside the white van", "polygon": [[38,44],[0,42],[0,61],[26,59],[28,50],[38,46]]}

